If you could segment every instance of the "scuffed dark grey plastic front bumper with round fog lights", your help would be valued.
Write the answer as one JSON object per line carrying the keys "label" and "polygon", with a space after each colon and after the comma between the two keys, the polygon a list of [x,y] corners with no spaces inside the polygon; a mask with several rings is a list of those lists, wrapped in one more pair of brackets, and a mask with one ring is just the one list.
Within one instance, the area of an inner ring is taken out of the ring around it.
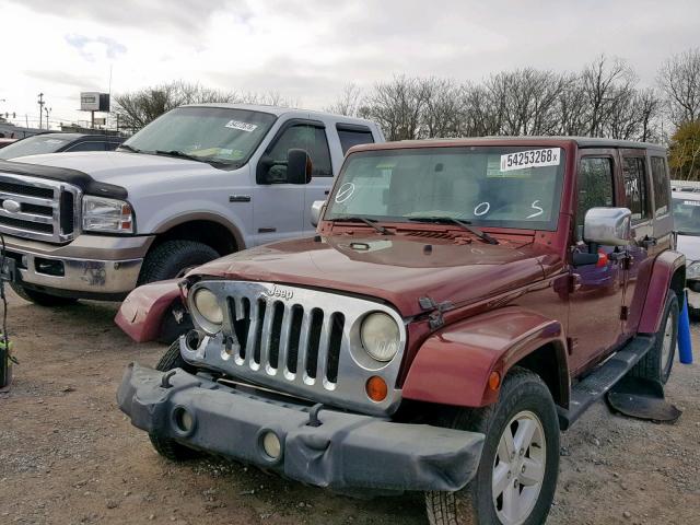
{"label": "scuffed dark grey plastic front bumper with round fog lights", "polygon": [[[164,387],[163,372],[127,366],[117,402],[135,427],[304,483],[345,492],[455,491],[479,465],[483,434],[331,410],[320,411],[314,427],[308,406],[182,369],[171,373]],[[264,448],[269,432],[280,443],[277,457]]]}

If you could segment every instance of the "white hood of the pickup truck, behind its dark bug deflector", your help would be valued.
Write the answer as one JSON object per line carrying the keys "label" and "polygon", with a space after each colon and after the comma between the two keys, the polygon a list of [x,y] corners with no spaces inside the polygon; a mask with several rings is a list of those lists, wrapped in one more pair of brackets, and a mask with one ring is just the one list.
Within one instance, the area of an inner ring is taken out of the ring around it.
{"label": "white hood of the pickup truck, behind its dark bug deflector", "polygon": [[85,151],[22,156],[13,162],[77,170],[101,183],[132,188],[151,178],[163,182],[163,175],[177,173],[201,175],[220,173],[203,162],[164,155],[148,155],[124,151]]}

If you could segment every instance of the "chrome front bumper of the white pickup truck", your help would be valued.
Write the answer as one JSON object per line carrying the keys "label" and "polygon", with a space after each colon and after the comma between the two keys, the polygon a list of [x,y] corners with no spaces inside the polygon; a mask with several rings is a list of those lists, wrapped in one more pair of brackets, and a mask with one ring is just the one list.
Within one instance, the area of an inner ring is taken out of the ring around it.
{"label": "chrome front bumper of the white pickup truck", "polygon": [[49,245],[5,235],[15,282],[55,295],[124,299],[136,287],[152,236],[80,235]]}

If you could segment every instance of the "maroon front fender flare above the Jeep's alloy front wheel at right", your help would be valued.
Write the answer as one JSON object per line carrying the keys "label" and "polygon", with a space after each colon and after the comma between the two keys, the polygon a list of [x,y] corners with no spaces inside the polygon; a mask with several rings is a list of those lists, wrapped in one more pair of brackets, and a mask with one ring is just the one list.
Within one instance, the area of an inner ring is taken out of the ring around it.
{"label": "maroon front fender flare above the Jeep's alloy front wheel at right", "polygon": [[465,319],[430,336],[411,363],[402,397],[460,407],[483,407],[498,400],[489,377],[508,371],[527,355],[552,351],[548,384],[555,402],[569,406],[567,343],[558,320],[520,306],[506,306]]}

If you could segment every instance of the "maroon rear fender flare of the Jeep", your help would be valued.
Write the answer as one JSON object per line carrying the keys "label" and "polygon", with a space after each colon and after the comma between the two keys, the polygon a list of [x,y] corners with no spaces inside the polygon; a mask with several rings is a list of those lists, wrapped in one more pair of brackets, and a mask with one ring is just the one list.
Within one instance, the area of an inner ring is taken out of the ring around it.
{"label": "maroon rear fender flare of the Jeep", "polygon": [[[675,283],[674,276],[679,282]],[[661,317],[666,304],[669,288],[681,291],[686,288],[686,256],[673,250],[658,255],[652,267],[652,275],[646,288],[644,306],[640,316],[638,331],[640,334],[655,334],[661,325]],[[681,305],[682,306],[682,305]]]}

